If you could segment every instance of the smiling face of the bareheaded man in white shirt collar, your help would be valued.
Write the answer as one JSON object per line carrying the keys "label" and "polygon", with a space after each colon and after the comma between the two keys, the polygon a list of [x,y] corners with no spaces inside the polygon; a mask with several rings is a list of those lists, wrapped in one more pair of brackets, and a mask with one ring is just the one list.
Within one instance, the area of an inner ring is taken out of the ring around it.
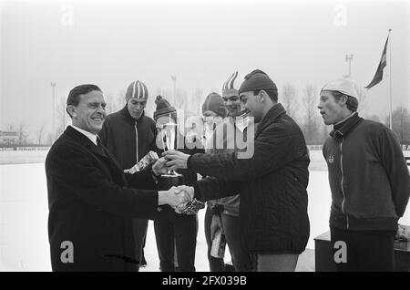
{"label": "smiling face of the bareheaded man in white shirt collar", "polygon": [[79,96],[78,106],[67,108],[72,116],[73,125],[97,134],[106,119],[106,102],[100,91],[93,90]]}

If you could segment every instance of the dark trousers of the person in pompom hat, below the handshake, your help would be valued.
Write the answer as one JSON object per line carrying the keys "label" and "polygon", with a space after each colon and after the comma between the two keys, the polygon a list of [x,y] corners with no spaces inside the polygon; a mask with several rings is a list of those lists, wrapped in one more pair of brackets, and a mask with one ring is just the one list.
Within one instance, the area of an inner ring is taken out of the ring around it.
{"label": "dark trousers of the person in pompom hat, below the handshake", "polygon": [[154,220],[155,238],[162,272],[175,272],[174,250],[177,249],[178,271],[195,271],[197,215],[179,214],[165,208]]}

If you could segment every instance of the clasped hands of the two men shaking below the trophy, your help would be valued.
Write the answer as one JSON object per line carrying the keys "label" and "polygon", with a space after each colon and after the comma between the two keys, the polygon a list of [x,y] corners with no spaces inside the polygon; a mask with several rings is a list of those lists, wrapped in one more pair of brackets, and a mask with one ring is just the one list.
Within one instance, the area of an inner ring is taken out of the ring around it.
{"label": "clasped hands of the two men shaking below the trophy", "polygon": [[194,198],[194,189],[191,186],[179,185],[171,187],[169,191],[159,191],[159,205],[169,204],[175,212],[196,214],[205,207],[204,202]]}

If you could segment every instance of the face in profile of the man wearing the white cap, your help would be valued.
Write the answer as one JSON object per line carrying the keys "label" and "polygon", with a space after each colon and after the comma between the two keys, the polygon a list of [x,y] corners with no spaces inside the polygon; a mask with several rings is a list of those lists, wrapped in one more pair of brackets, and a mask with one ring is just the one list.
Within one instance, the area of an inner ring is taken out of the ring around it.
{"label": "face in profile of the man wearing the white cap", "polygon": [[334,98],[330,90],[321,92],[317,108],[320,110],[324,124],[333,125],[349,114],[349,110],[346,108],[346,99],[346,96],[339,99]]}

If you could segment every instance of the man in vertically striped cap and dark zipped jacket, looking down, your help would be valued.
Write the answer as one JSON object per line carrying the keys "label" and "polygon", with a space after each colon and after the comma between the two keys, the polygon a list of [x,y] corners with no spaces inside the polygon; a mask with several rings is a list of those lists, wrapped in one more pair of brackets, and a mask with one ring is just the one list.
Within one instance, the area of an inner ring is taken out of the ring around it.
{"label": "man in vertically striped cap and dark zipped jacket, looking down", "polygon": [[[143,158],[149,150],[157,150],[155,139],[157,129],[153,119],[145,116],[149,91],[142,81],[132,82],[126,92],[126,106],[118,112],[107,116],[103,128],[99,133],[104,146],[117,158],[123,170],[130,169]],[[139,189],[153,190],[156,184],[143,174],[135,173],[133,180]],[[134,234],[141,266],[147,264],[144,256],[144,245],[147,235],[148,220],[134,219]]]}

